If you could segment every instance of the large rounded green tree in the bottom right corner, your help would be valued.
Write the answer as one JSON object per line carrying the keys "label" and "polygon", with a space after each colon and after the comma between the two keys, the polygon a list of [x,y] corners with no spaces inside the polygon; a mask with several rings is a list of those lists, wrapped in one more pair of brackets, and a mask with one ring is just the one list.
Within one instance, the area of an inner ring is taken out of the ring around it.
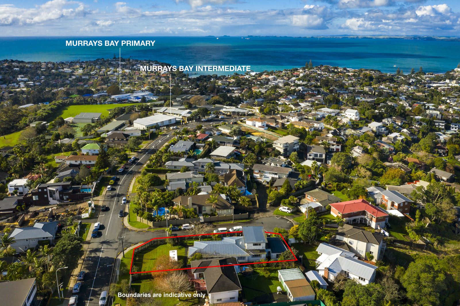
{"label": "large rounded green tree in the bottom right corner", "polygon": [[443,301],[452,288],[446,274],[435,256],[420,256],[409,264],[401,284],[413,305],[445,305]]}

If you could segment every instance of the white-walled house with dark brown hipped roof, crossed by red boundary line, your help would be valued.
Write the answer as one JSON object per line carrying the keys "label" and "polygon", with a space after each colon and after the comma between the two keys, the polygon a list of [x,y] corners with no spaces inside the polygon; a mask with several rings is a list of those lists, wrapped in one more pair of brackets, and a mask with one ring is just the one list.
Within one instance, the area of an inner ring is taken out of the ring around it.
{"label": "white-walled house with dark brown hipped roof, crossed by red boundary line", "polygon": [[242,289],[238,279],[239,266],[234,257],[224,257],[191,262],[194,279],[204,278],[211,305],[238,300]]}

